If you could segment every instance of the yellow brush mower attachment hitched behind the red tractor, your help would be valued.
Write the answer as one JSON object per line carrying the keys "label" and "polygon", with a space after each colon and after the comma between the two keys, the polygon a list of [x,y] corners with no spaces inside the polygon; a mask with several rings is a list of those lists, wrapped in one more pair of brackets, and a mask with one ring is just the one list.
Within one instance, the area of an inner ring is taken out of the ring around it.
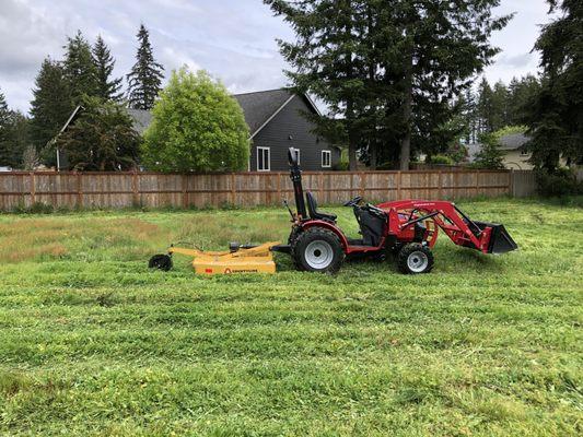
{"label": "yellow brush mower attachment hitched behind the red tractor", "polygon": [[194,257],[195,273],[202,275],[234,273],[276,273],[276,263],[271,248],[279,243],[266,243],[260,246],[232,243],[229,251],[202,251],[171,246],[168,255],[156,255],[150,259],[149,268],[168,271],[172,269],[174,253]]}

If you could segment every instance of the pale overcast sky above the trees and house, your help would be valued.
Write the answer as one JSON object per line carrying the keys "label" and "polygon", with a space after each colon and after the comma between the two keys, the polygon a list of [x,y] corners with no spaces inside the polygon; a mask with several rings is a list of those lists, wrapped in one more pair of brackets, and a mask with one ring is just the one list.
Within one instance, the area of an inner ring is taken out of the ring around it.
{"label": "pale overcast sky above the trees and house", "polygon": [[[545,0],[502,0],[498,13],[516,16],[493,37],[503,51],[486,71],[488,80],[536,72],[530,50],[547,10]],[[101,34],[117,60],[116,74],[126,74],[141,22],[166,72],[203,68],[233,93],[287,84],[275,38],[293,35],[261,0],[0,0],[0,90],[9,106],[28,110],[40,62],[61,59],[66,35],[77,29],[91,42]]]}

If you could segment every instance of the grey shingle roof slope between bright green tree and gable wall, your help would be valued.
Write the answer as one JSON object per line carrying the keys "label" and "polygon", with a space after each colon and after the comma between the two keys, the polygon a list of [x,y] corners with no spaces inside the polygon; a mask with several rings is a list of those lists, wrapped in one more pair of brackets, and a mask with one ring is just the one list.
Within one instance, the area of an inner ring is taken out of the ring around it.
{"label": "grey shingle roof slope between bright green tree and gable wall", "polygon": [[233,97],[243,108],[245,121],[253,135],[291,96],[289,90],[271,90],[236,94]]}

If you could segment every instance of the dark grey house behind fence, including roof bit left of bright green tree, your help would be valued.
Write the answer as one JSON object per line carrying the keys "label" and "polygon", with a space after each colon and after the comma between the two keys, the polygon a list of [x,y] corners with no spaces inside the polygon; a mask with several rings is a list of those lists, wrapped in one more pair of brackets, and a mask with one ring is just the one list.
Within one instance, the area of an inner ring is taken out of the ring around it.
{"label": "dark grey house behind fence, including roof bit left of bright green tree", "polygon": [[[302,113],[319,114],[307,95],[289,90],[236,94],[249,127],[249,172],[287,172],[288,150],[293,147],[302,169],[331,170],[340,162],[340,149],[313,133],[315,126]],[[128,109],[140,133],[150,126],[149,111]]]}

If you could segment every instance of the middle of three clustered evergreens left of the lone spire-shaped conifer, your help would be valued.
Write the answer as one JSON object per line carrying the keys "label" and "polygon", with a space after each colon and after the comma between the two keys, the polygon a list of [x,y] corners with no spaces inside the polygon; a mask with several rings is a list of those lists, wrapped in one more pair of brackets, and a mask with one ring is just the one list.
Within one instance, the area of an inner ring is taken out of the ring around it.
{"label": "middle of three clustered evergreens left of the lone spire-shaped conifer", "polygon": [[79,105],[83,95],[97,95],[97,68],[93,61],[91,46],[81,31],[78,31],[74,37],[67,38],[65,49],[65,75],[69,81],[73,104]]}

